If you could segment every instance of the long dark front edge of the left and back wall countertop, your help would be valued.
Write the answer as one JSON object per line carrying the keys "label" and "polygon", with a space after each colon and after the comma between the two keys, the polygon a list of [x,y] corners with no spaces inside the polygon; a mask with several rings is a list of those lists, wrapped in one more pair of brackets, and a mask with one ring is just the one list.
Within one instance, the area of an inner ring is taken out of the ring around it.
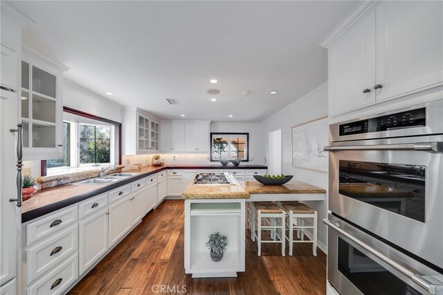
{"label": "long dark front edge of the left and back wall countertop", "polygon": [[91,190],[88,193],[83,193],[80,195],[75,195],[74,197],[70,197],[68,199],[63,199],[59,202],[55,202],[53,204],[49,204],[46,206],[42,206],[39,208],[35,208],[31,211],[21,213],[21,223],[29,222],[30,220],[35,220],[39,217],[42,217],[43,215],[53,213],[57,210],[60,210],[62,208],[66,208],[68,206],[71,206],[73,204],[77,204],[79,202],[84,201],[85,199],[89,199],[91,197],[96,197],[97,195],[100,195],[102,193],[106,193],[109,190],[114,190],[114,188],[118,188],[120,186],[124,186],[125,184],[130,184],[133,181],[136,181],[138,179],[142,179],[145,177],[149,177],[150,175],[157,174],[163,170],[167,169],[267,169],[267,166],[261,166],[261,165],[248,165],[248,166],[159,166],[157,170],[141,173],[139,175],[134,175],[133,177],[128,177],[127,179],[122,179],[120,181],[116,181],[111,184],[107,184],[106,186],[103,186],[102,188],[97,188],[95,190]]}

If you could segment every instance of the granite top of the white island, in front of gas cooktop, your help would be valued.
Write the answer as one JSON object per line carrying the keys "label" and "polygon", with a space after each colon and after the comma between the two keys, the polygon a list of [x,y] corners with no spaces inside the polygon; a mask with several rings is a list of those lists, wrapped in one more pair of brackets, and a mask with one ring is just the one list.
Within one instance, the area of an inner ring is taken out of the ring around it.
{"label": "granite top of the white island, in front of gas cooktop", "polygon": [[182,199],[249,199],[241,184],[195,185],[190,184],[181,194]]}

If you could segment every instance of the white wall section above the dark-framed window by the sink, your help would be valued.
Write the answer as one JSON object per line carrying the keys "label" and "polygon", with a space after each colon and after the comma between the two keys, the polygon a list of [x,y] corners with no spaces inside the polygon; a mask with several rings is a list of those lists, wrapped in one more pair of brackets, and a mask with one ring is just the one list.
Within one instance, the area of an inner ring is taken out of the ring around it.
{"label": "white wall section above the dark-framed window by the sink", "polygon": [[63,80],[63,105],[116,122],[122,122],[122,106],[97,93]]}

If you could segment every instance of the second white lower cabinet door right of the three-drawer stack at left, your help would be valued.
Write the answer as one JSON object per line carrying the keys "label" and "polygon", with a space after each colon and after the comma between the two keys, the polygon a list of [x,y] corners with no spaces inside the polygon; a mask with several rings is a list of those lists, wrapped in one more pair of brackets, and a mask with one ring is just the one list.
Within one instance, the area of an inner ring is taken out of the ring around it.
{"label": "second white lower cabinet door right of the three-drawer stack at left", "polygon": [[109,247],[113,247],[131,229],[131,195],[109,205]]}

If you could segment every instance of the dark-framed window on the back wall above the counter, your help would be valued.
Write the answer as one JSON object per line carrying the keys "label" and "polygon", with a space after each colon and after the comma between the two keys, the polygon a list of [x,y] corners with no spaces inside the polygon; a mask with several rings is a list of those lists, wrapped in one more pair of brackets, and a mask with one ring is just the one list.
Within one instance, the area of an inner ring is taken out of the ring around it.
{"label": "dark-framed window on the back wall above the counter", "polygon": [[242,159],[248,161],[248,133],[211,133],[211,161]]}

